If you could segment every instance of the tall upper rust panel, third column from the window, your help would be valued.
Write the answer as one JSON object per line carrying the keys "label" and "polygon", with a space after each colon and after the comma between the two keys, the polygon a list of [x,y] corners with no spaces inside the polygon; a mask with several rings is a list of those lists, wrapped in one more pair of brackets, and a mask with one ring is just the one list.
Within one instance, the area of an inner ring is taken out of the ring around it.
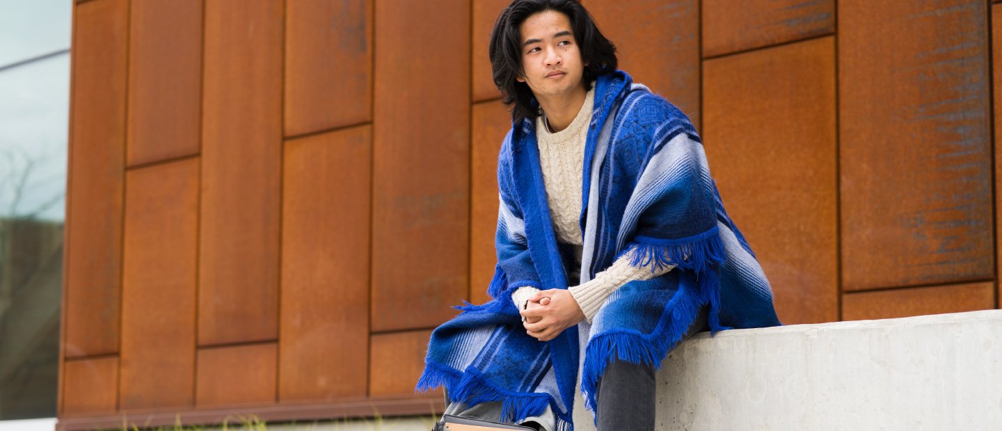
{"label": "tall upper rust panel, third column from the window", "polygon": [[199,345],[279,335],[282,26],[281,1],[205,6]]}

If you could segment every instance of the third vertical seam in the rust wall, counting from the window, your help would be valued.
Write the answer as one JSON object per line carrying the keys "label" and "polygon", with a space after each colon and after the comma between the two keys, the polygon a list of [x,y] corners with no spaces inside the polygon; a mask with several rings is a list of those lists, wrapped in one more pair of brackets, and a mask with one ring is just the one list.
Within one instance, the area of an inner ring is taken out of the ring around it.
{"label": "third vertical seam in the rust wall, counting from the window", "polygon": [[280,385],[280,373],[282,372],[282,262],[285,257],[285,250],[283,248],[283,242],[285,237],[285,218],[286,218],[286,32],[289,31],[289,2],[283,0],[282,2],[282,43],[280,49],[282,50],[282,78],[281,86],[279,90],[280,95],[280,109],[279,109],[279,150],[281,154],[279,155],[279,280],[276,284],[277,292],[276,298],[278,302],[279,310],[276,313],[276,325],[278,326],[278,331],[275,336],[275,402],[279,402],[279,385]]}

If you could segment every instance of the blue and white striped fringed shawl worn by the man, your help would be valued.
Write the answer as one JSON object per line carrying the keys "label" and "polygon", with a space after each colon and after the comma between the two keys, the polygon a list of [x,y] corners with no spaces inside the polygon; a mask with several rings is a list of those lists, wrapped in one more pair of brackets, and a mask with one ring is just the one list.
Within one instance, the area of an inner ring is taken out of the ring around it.
{"label": "blue and white striped fringed shawl worn by the man", "polygon": [[[594,99],[581,279],[567,280],[573,260],[553,231],[534,124],[513,124],[498,159],[494,299],[457,307],[463,312],[433,332],[419,390],[444,385],[451,401],[468,405],[501,401],[502,417],[516,422],[550,407],[558,429],[572,430],[579,372],[594,410],[598,379],[613,357],[658,367],[703,305],[713,332],[780,325],[769,282],[723,210],[688,118],[621,71],[599,77]],[[676,268],[619,288],[590,326],[545,343],[525,333],[515,289],[583,283],[623,253],[633,265]]]}

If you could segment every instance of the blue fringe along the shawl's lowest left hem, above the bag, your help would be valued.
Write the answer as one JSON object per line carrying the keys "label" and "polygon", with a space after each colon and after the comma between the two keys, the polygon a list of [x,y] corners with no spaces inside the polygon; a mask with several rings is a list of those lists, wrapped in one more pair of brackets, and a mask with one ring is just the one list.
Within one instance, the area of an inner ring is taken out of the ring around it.
{"label": "blue fringe along the shawl's lowest left hem, above the bag", "polygon": [[562,416],[556,403],[548,394],[524,394],[499,389],[490,384],[476,369],[468,368],[459,373],[449,367],[426,363],[425,371],[418,380],[416,392],[428,392],[445,386],[450,402],[462,401],[468,407],[486,402],[501,402],[501,420],[518,423],[530,416],[539,416],[550,407],[556,417],[555,431],[574,431],[569,416]]}

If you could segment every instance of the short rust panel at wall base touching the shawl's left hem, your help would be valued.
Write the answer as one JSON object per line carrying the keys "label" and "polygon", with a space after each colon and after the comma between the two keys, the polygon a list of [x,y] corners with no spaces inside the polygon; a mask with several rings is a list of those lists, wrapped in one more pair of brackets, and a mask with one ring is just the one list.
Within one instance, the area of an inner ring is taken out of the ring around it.
{"label": "short rust panel at wall base touching the shawl's left hem", "polygon": [[[425,368],[432,331],[373,335],[369,394],[373,397],[411,396]],[[436,389],[432,394],[441,394]],[[439,395],[441,396],[441,395]]]}

